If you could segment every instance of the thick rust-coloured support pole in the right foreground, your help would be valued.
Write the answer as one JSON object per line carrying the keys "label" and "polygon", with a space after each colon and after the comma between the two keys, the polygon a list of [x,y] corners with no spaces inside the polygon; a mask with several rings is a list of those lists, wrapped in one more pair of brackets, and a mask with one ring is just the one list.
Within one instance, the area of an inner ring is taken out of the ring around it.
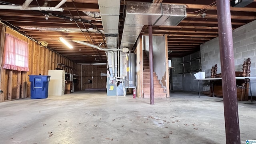
{"label": "thick rust-coloured support pole in the right foreground", "polygon": [[226,143],[240,144],[230,0],[217,0]]}

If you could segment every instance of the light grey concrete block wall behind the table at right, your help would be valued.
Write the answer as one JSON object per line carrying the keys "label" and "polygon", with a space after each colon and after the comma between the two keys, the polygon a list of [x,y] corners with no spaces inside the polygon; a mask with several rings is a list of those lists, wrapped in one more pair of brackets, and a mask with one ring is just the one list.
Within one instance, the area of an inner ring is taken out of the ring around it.
{"label": "light grey concrete block wall behind the table at right", "polygon": [[[251,59],[250,76],[256,76],[256,20],[233,30],[235,70],[242,72],[242,64]],[[217,73],[221,73],[220,46],[218,38],[214,38],[200,46],[202,71],[206,77],[211,76],[211,68],[218,65]],[[251,80],[252,95],[256,96],[256,80]]]}

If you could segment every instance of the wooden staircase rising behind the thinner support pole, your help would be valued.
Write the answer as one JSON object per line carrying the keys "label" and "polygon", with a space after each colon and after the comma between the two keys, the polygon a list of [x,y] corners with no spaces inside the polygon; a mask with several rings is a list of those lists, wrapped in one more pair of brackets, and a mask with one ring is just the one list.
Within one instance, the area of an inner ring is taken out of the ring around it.
{"label": "wooden staircase rising behind the thinner support pole", "polygon": [[[166,92],[162,88],[157,79],[157,75],[153,72],[154,80],[154,98],[166,98]],[[149,74],[149,58],[143,50],[143,96],[144,98],[150,98],[150,74]]]}

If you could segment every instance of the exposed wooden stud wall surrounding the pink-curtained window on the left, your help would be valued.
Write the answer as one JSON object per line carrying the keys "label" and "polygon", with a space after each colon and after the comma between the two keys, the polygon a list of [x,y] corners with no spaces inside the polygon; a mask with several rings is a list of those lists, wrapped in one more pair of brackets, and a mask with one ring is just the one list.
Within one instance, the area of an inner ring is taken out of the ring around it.
{"label": "exposed wooden stud wall surrounding the pink-curtained window on the left", "polygon": [[[0,28],[4,28],[1,26]],[[71,68],[76,68],[76,64],[67,58],[60,56],[40,45],[18,32],[6,27],[5,33],[12,34],[20,40],[28,42],[28,67],[29,72],[19,72],[16,70],[1,69],[0,89],[3,94],[0,94],[0,102],[6,100],[14,100],[19,98],[26,98],[30,96],[30,82],[29,75],[48,75],[48,70],[55,70],[57,63],[65,64]],[[2,39],[1,39],[2,40]],[[1,52],[1,59],[4,60],[4,50]],[[71,68],[67,68],[66,72],[71,72]],[[65,70],[63,68],[63,70]],[[75,74],[76,70],[73,70]]]}

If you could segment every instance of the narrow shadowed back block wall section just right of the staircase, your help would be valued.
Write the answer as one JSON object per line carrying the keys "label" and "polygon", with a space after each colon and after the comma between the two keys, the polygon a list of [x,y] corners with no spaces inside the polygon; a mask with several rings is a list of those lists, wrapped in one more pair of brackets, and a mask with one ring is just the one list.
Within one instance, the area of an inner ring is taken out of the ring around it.
{"label": "narrow shadowed back block wall section just right of the staircase", "polygon": [[182,90],[182,73],[183,68],[180,64],[182,58],[172,58],[172,86],[173,90]]}

